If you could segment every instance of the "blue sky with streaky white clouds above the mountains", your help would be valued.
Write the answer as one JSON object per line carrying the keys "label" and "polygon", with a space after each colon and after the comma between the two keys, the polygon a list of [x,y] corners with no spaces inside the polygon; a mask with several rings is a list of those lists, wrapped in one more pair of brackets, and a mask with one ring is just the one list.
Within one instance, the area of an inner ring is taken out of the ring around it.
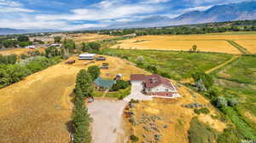
{"label": "blue sky with streaky white clouds above the mountains", "polygon": [[[235,0],[0,0],[0,27],[79,30],[161,15],[170,18]],[[236,0],[243,2],[247,0]]]}

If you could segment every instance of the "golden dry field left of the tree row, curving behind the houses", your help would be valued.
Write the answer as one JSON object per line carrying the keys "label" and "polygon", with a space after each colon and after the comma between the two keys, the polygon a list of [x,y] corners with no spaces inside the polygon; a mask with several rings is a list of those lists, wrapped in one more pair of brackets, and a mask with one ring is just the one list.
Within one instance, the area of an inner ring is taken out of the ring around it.
{"label": "golden dry field left of the tree row, curving behind the houses", "polygon": [[[88,61],[77,60],[72,66],[62,62],[0,89],[0,142],[68,142],[71,94],[77,73],[87,67],[84,62]],[[123,73],[128,79],[131,73],[147,73],[118,58],[107,57],[105,62],[110,69],[102,70],[102,77]],[[88,66],[92,65],[102,61]]]}

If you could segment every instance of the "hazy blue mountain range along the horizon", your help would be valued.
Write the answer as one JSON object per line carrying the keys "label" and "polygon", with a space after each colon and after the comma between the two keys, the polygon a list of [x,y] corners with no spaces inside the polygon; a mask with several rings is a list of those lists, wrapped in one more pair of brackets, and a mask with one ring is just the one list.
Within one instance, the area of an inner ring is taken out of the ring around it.
{"label": "hazy blue mountain range along the horizon", "polygon": [[[201,24],[209,22],[222,22],[233,20],[256,20],[256,1],[243,3],[230,3],[224,5],[215,5],[205,11],[190,11],[181,14],[175,18],[168,16],[154,15],[143,20],[130,22],[117,22],[103,29],[133,28],[133,27],[157,27],[157,26],[178,26]],[[86,28],[86,30],[95,30],[99,28]],[[85,29],[84,29],[85,30]],[[29,32],[44,32],[55,30],[18,30],[9,28],[0,28],[0,35],[20,34]]]}

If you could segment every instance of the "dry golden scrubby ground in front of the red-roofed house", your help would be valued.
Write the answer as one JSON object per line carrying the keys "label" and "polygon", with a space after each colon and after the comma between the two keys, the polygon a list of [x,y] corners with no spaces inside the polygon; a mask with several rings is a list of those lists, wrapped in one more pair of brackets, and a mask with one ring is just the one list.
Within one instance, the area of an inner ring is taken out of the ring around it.
{"label": "dry golden scrubby ground in front of the red-roofed house", "polygon": [[[131,123],[127,123],[130,127],[130,134],[135,134],[140,142],[143,140],[147,142],[149,140],[154,140],[154,134],[161,134],[161,143],[189,143],[188,129],[192,117],[196,116],[202,123],[207,123],[219,132],[222,132],[226,128],[225,123],[212,118],[211,115],[216,116],[218,115],[218,112],[208,100],[203,98],[200,94],[196,94],[192,90],[181,85],[179,86],[178,91],[183,97],[177,100],[154,99],[153,101],[142,101],[139,104],[136,104],[132,110],[136,117],[137,125],[133,126]],[[193,109],[182,106],[194,102],[206,105],[211,111],[210,114],[196,115]],[[145,127],[148,126],[147,123],[143,123],[143,117],[145,116],[160,117],[160,119],[156,119],[155,122],[151,123],[151,126],[155,126],[158,131],[152,129],[148,132],[147,129],[145,129]],[[164,126],[167,128],[164,128]],[[143,134],[146,137],[143,137]]]}

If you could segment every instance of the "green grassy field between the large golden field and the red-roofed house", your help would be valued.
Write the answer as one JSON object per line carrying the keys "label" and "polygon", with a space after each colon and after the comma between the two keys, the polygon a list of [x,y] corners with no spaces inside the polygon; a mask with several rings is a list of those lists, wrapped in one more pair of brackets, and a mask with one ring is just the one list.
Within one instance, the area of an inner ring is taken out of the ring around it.
{"label": "green grassy field between the large golden field and the red-roofed house", "polygon": [[104,49],[103,54],[123,57],[136,63],[143,57],[143,68],[156,66],[159,72],[166,72],[176,80],[191,77],[191,72],[207,71],[232,58],[232,54],[189,53],[160,50]]}

